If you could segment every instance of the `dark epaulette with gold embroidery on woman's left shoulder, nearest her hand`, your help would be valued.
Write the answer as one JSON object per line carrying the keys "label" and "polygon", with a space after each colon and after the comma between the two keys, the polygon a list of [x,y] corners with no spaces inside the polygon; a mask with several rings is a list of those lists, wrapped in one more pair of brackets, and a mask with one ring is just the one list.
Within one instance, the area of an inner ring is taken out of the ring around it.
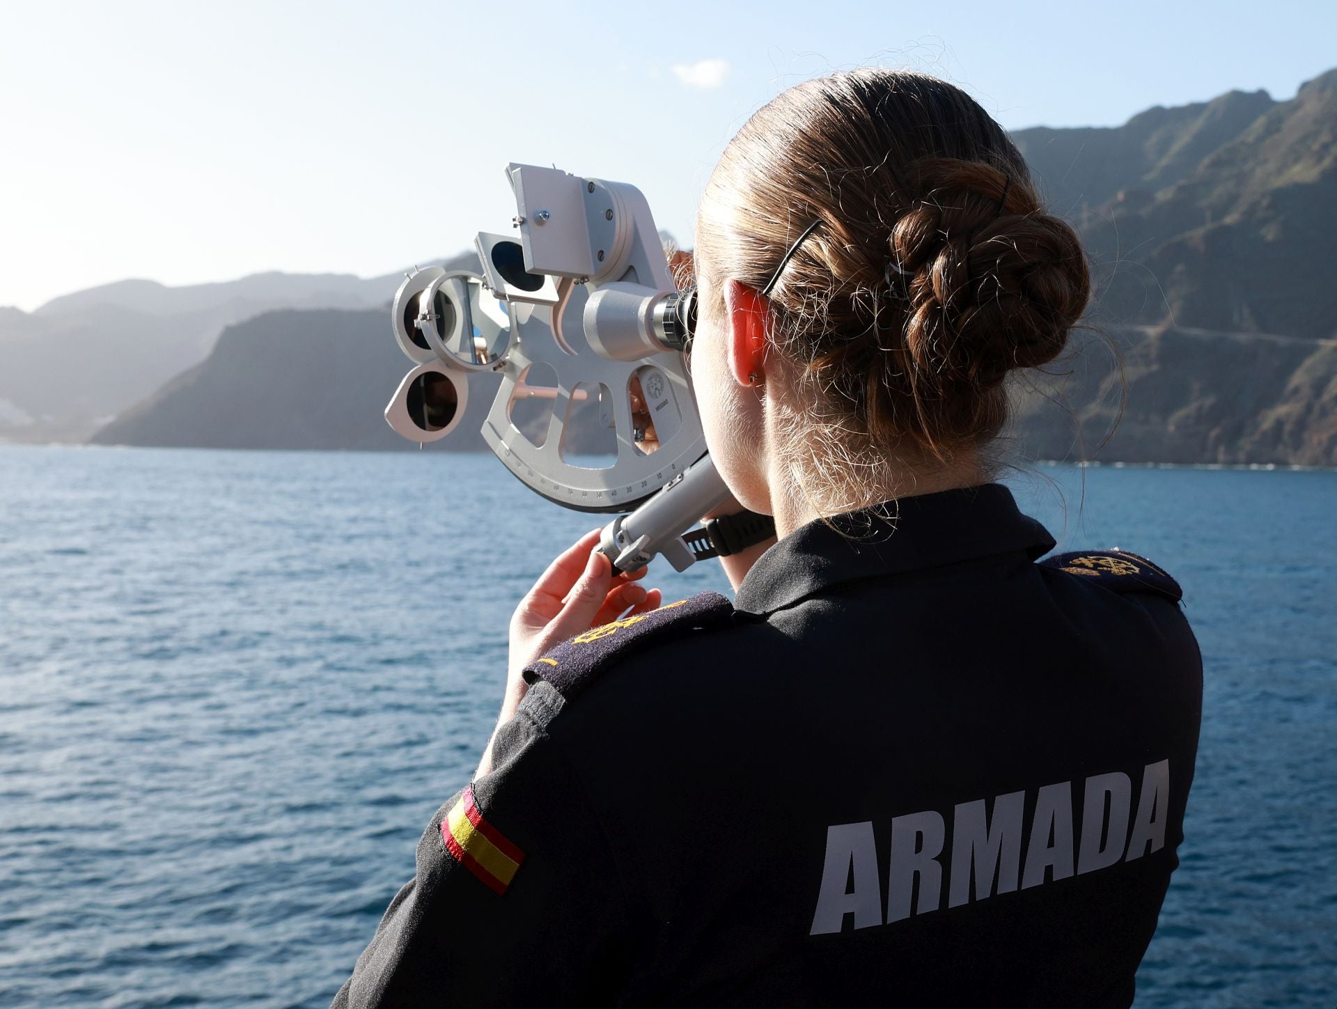
{"label": "dark epaulette with gold embroidery on woman's left shoulder, nearest her hand", "polygon": [[531,684],[547,680],[570,700],[603,670],[626,659],[632,651],[694,629],[721,625],[729,621],[733,612],[734,604],[718,592],[701,592],[648,613],[592,627],[527,666],[524,679]]}

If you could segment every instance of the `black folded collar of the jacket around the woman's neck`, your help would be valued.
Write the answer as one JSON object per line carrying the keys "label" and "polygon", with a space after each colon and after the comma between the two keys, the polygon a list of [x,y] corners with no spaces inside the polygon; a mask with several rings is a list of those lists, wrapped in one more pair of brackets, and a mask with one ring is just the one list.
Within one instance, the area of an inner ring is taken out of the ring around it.
{"label": "black folded collar of the jacket around the woman's neck", "polygon": [[734,607],[769,613],[841,581],[997,553],[1036,560],[1054,549],[1050,532],[1021,515],[1001,484],[902,497],[829,521],[808,523],[766,551],[738,587]]}

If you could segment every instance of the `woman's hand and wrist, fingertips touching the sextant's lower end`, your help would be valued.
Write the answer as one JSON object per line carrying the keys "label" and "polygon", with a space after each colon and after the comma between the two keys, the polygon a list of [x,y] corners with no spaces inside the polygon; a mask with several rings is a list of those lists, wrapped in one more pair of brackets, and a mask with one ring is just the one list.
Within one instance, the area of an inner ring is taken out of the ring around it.
{"label": "woman's hand and wrist, fingertips touching the sextant's lower end", "polygon": [[[511,617],[511,654],[499,726],[511,720],[524,699],[528,690],[523,676],[525,666],[591,627],[659,607],[659,589],[647,591],[636,584],[644,576],[644,568],[612,576],[608,559],[595,549],[600,529],[592,529],[576,540],[548,565],[516,607]],[[489,742],[479,774],[491,768]]]}

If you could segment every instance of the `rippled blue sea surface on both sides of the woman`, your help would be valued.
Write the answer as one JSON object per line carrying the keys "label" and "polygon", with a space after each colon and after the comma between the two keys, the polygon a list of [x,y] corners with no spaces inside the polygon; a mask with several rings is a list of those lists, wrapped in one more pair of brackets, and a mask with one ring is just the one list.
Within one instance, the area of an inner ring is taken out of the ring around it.
{"label": "rippled blue sea surface on both sides of the woman", "polygon": [[[1330,1009],[1337,473],[1009,482],[1178,576],[1202,644],[1138,1006]],[[599,524],[491,456],[0,448],[0,1005],[326,1005],[468,780],[512,607]]]}

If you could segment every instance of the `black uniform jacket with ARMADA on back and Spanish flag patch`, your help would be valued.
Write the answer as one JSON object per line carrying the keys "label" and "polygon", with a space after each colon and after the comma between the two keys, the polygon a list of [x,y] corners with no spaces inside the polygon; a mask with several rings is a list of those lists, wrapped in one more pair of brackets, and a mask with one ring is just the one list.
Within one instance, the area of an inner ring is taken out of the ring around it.
{"label": "black uniform jacket with ARMADA on back and Spanish flag patch", "polygon": [[1128,1006],[1202,666],[1159,568],[1052,548],[904,498],[562,645],[334,1005]]}

